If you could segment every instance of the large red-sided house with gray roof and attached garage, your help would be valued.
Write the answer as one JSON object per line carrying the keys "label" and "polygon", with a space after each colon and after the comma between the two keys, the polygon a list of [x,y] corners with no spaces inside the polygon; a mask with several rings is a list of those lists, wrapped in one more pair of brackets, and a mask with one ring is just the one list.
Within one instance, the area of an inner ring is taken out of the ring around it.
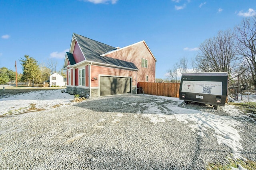
{"label": "large red-sided house with gray roof and attached garage", "polygon": [[73,33],[64,70],[70,94],[136,93],[138,82],[155,82],[156,58],[145,41],[120,48]]}

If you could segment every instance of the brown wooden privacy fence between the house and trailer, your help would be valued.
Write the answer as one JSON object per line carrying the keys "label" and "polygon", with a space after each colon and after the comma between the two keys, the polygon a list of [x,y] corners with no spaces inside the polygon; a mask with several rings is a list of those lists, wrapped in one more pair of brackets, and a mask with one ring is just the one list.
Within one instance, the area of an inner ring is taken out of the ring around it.
{"label": "brown wooden privacy fence between the house and trailer", "polygon": [[139,87],[142,88],[144,94],[179,98],[180,83],[138,82]]}

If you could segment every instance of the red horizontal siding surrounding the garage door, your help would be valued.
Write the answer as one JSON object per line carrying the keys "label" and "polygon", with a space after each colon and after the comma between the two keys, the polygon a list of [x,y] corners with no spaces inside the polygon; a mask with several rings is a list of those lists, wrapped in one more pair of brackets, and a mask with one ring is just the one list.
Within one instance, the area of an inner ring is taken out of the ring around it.
{"label": "red horizontal siding surrounding the garage door", "polygon": [[[91,86],[92,87],[98,87],[98,79],[99,74],[101,75],[108,75],[108,76],[124,76],[124,77],[132,77],[132,85],[136,85],[136,72],[129,71],[129,70],[122,70],[118,68],[109,68],[109,67],[103,67],[103,66],[91,66]],[[94,80],[94,77],[97,78],[97,80]]]}

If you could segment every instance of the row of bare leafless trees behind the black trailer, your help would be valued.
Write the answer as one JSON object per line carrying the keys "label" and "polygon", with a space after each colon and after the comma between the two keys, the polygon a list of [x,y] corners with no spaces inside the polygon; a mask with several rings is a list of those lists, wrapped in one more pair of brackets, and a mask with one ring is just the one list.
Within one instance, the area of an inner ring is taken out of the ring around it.
{"label": "row of bare leafless trees behind the black trailer", "polygon": [[239,76],[242,84],[256,87],[256,16],[244,18],[233,30],[219,31],[199,46],[196,57],[180,61],[167,71],[166,77],[178,82],[185,72],[227,72],[229,80]]}

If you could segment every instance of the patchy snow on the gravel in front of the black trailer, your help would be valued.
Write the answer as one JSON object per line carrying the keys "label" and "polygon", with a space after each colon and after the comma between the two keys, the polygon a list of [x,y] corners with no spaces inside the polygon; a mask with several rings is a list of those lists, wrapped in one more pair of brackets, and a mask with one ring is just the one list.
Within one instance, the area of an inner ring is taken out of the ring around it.
{"label": "patchy snow on the gravel in front of the black trailer", "polygon": [[[215,137],[219,144],[224,144],[233,151],[234,158],[240,158],[246,160],[240,155],[240,151],[243,150],[242,139],[238,133],[239,126],[243,124],[240,121],[233,119],[230,116],[220,116],[210,112],[203,112],[194,109],[186,109],[183,107],[178,107],[177,103],[182,101],[178,98],[169,97],[158,97],[158,102],[164,102],[164,100],[171,100],[170,104],[163,104],[166,108],[164,111],[156,107],[154,102],[141,103],[142,106],[148,105],[148,109],[145,110],[143,116],[150,118],[150,121],[154,124],[159,122],[165,122],[166,120],[176,119],[178,121],[183,121],[188,123],[188,121],[194,121],[195,124],[188,124],[192,131],[198,129],[200,132],[198,135],[204,137],[204,131],[207,129],[213,129],[215,131]],[[234,107],[230,107],[228,104],[225,107],[229,107],[228,110],[230,114],[237,114],[238,110]],[[140,111],[138,111],[140,113]],[[248,117],[249,119],[249,117]]]}

